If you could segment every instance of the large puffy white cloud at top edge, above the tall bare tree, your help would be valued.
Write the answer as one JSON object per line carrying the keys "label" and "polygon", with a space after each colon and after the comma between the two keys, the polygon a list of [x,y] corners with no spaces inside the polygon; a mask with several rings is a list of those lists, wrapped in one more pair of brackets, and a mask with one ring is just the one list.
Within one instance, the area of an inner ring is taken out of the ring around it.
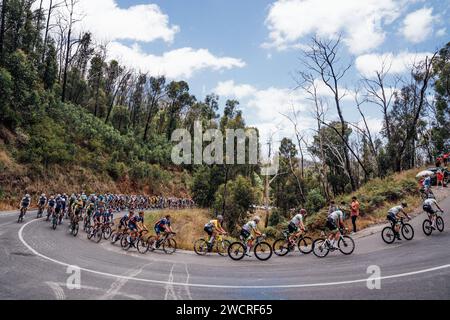
{"label": "large puffy white cloud at top edge, above the tall bare tree", "polygon": [[278,0],[266,18],[270,31],[264,47],[285,50],[302,47],[298,42],[317,34],[336,37],[355,54],[377,48],[385,39],[383,27],[395,21],[406,1],[395,0]]}

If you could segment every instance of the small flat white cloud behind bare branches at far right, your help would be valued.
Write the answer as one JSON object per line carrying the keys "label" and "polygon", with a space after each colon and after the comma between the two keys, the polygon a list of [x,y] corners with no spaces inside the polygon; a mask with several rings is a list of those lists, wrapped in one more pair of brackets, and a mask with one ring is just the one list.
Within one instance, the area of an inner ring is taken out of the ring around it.
{"label": "small flat white cloud behind bare branches at far right", "polygon": [[430,52],[400,52],[394,54],[391,52],[383,54],[366,54],[356,58],[356,68],[358,71],[366,77],[375,75],[376,71],[380,71],[383,63],[389,67],[390,74],[400,74],[407,72],[411,69],[414,63],[425,60],[425,58],[431,57],[433,54]]}

